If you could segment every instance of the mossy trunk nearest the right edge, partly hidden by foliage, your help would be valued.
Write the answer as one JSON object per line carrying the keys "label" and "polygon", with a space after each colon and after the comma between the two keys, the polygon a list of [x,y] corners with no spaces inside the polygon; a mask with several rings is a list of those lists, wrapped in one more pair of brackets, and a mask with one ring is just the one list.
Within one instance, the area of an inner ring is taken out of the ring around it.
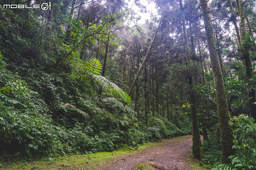
{"label": "mossy trunk nearest the right edge, partly hidden by foliage", "polygon": [[[244,16],[244,7],[243,7],[243,1],[238,0],[239,2],[239,13],[240,13],[240,31],[241,31],[241,38],[242,41],[245,41],[246,36],[246,28],[245,28],[245,16]],[[249,81],[249,85],[252,83],[251,79],[253,78],[252,73],[252,64],[251,64],[251,58],[250,58],[250,52],[249,50],[245,50],[248,47],[242,47],[241,53],[242,58],[245,60],[245,66],[246,66],[246,77]],[[251,117],[256,119],[256,98],[255,98],[255,91],[252,88],[248,89],[248,96],[249,96],[249,102],[250,102],[250,108],[251,108]]]}

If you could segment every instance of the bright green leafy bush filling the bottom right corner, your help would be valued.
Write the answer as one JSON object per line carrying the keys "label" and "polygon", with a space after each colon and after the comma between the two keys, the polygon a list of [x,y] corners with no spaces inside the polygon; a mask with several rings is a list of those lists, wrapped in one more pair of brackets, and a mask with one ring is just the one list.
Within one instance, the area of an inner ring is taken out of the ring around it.
{"label": "bright green leafy bush filling the bottom right corner", "polygon": [[220,164],[214,170],[251,170],[256,168],[256,124],[248,115],[239,115],[229,121],[233,126],[235,155],[230,164]]}

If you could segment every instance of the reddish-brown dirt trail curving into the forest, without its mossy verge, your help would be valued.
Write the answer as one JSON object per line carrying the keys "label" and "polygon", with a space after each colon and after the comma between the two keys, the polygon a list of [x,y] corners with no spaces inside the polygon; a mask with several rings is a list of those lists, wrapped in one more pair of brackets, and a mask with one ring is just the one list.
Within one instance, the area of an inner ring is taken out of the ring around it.
{"label": "reddish-brown dirt trail curving into the forest, without its mossy verge", "polygon": [[161,143],[161,146],[153,146],[113,160],[104,170],[132,170],[141,163],[151,163],[159,170],[192,170],[186,163],[187,154],[192,152],[192,135],[164,140]]}

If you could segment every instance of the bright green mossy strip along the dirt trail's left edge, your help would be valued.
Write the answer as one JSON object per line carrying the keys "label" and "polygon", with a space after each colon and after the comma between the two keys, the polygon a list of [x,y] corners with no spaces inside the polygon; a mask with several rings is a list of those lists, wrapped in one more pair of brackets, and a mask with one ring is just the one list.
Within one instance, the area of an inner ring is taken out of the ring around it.
{"label": "bright green mossy strip along the dirt trail's left edge", "polygon": [[129,146],[116,149],[112,152],[97,152],[92,154],[80,154],[80,155],[69,155],[62,158],[57,158],[54,161],[49,159],[34,160],[34,161],[23,161],[15,163],[3,163],[0,166],[1,170],[98,170],[103,167],[112,166],[112,162],[115,162],[119,157],[124,154],[134,154],[142,149],[149,148],[152,146],[161,146],[163,140],[157,142],[145,143],[134,149]]}

